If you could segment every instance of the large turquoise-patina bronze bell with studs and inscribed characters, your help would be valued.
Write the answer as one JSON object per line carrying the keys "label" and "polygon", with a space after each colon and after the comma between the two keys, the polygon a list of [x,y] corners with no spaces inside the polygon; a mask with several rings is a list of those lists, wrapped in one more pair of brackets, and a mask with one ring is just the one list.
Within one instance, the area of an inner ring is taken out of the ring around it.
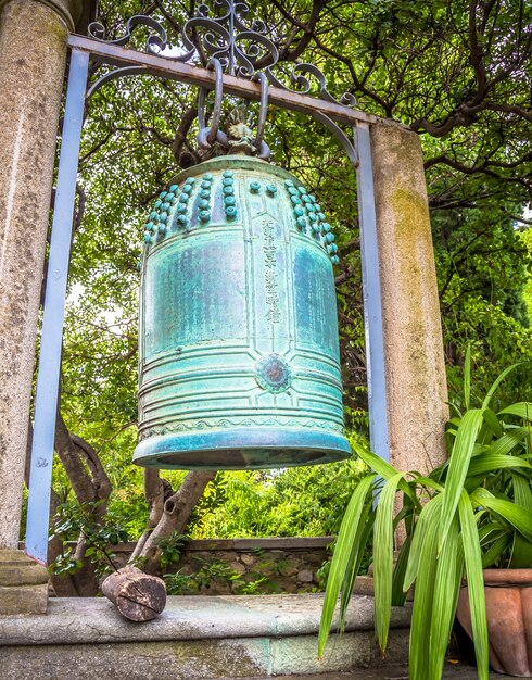
{"label": "large turquoise-patina bronze bell with studs and inscribed characters", "polygon": [[301,182],[254,158],[206,161],[161,193],[144,241],[134,461],[240,469],[349,456],[337,245]]}

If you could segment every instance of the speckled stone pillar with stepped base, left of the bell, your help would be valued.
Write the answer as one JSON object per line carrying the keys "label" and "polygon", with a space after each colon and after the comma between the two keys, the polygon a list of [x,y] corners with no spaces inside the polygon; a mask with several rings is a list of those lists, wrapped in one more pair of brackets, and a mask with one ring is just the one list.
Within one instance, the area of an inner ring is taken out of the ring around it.
{"label": "speckled stone pillar with stepped base, left of the bell", "polygon": [[0,614],[43,612],[16,550],[35,338],[68,30],[83,0],[0,0]]}

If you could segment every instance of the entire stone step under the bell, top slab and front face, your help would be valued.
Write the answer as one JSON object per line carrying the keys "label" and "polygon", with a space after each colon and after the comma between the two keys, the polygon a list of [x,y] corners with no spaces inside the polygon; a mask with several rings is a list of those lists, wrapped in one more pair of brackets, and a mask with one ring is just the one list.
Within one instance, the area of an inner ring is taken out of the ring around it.
{"label": "entire stone step under the bell, top slab and front face", "polygon": [[2,680],[224,680],[331,673],[406,662],[409,607],[394,609],[387,657],[372,597],[355,595],[345,633],[317,660],[322,594],[168,597],[132,624],[103,599],[51,600],[48,614],[0,617]]}

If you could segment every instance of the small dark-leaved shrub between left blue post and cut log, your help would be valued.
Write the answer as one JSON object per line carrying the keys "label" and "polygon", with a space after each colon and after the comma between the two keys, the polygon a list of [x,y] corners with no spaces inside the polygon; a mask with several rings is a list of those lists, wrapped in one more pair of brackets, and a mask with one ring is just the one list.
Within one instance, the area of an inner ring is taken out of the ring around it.
{"label": "small dark-leaved shrub between left blue post and cut log", "polygon": [[89,559],[97,566],[97,575],[113,570],[115,554],[110,545],[117,545],[128,540],[128,533],[117,522],[117,518],[111,512],[99,521],[94,511],[98,503],[63,503],[58,507],[53,526],[53,536],[60,539],[63,545],[61,554],[49,565],[52,574],[75,574],[84,565],[84,561],[76,558],[72,541],[77,541],[81,536],[86,541],[84,559]]}

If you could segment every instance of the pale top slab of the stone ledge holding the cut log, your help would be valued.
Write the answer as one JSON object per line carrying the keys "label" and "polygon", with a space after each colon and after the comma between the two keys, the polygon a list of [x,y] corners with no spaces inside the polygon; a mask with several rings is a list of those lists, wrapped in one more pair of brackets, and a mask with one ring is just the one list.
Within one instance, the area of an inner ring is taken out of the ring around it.
{"label": "pale top slab of the stone ledge holding the cut log", "polygon": [[[315,635],[322,594],[170,596],[155,620],[132,624],[106,600],[52,599],[46,616],[0,619],[1,645],[72,645]],[[409,607],[393,610],[392,628],[408,628]],[[373,630],[373,600],[355,595],[346,632]]]}

